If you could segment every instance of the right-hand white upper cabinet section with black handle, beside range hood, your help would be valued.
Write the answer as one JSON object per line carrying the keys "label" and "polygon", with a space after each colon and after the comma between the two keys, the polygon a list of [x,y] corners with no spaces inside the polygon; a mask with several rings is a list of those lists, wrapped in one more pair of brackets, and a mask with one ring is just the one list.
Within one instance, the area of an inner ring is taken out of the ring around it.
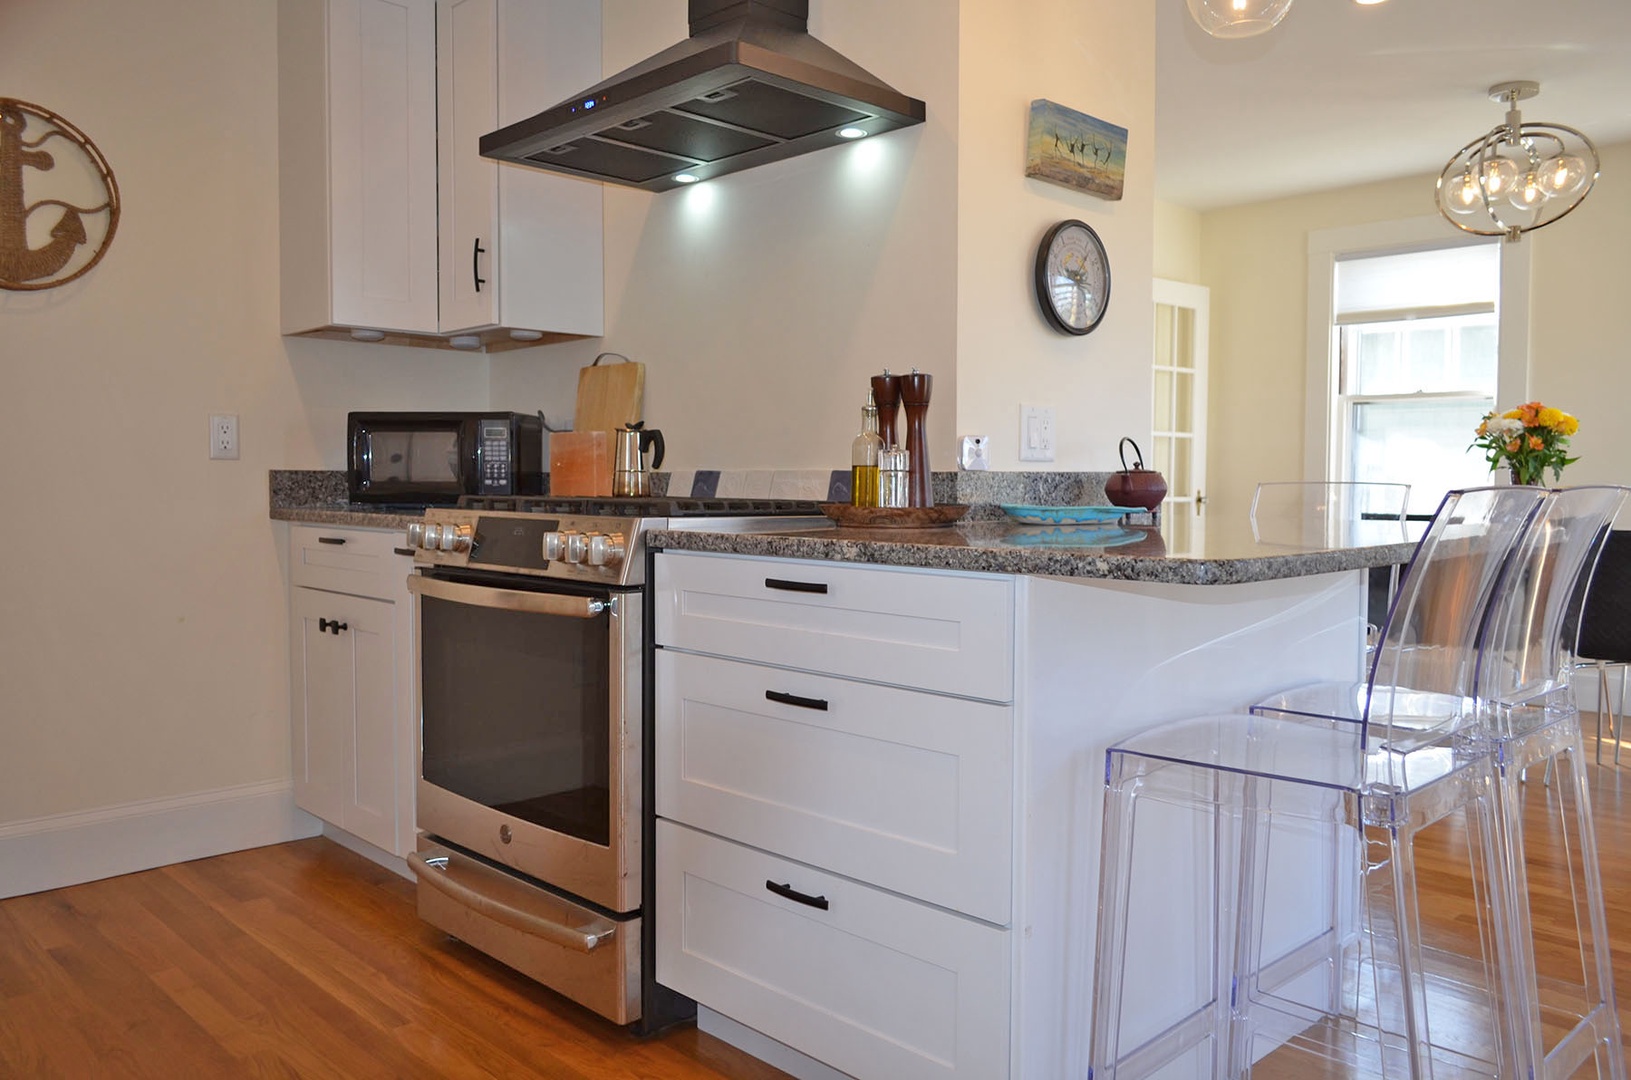
{"label": "right-hand white upper cabinet section with black handle, beside range hood", "polygon": [[437,0],[444,333],[603,333],[600,184],[478,150],[599,80],[599,3]]}

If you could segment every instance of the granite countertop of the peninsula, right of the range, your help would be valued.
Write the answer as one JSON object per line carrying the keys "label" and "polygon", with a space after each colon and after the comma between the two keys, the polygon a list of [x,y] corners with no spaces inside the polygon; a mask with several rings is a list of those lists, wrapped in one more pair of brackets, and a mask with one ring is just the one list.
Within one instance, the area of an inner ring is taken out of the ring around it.
{"label": "granite countertop of the peninsula, right of the range", "polygon": [[664,529],[646,535],[656,548],[773,558],[837,560],[879,566],[962,569],[993,574],[1103,578],[1220,586],[1306,578],[1408,563],[1414,540],[1368,535],[1349,545],[1293,548],[1254,542],[1249,533],[1212,530],[1202,551],[1166,553],[1148,525],[1016,525],[967,520],[941,529],[840,529],[705,532]]}

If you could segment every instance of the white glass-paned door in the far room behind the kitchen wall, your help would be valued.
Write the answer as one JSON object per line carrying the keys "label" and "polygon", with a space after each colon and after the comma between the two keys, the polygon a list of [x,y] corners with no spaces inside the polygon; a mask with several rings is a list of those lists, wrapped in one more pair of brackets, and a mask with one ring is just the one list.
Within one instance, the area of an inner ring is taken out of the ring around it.
{"label": "white glass-paned door in the far room behind the kitchen wall", "polygon": [[1209,303],[1204,285],[1155,279],[1155,460],[1147,463],[1166,478],[1168,555],[1194,555],[1205,538]]}

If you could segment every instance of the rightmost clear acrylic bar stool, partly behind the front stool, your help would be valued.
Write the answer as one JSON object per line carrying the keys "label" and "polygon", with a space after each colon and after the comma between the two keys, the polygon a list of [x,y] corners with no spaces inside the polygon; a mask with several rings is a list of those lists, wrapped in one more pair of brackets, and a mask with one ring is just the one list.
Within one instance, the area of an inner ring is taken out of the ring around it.
{"label": "rightmost clear acrylic bar stool, partly behind the front stool", "polygon": [[[1626,1080],[1580,711],[1562,640],[1579,581],[1590,581],[1590,595],[1598,574],[1620,571],[1603,568],[1600,553],[1626,494],[1610,486],[1551,494],[1514,558],[1479,649],[1476,697],[1491,711],[1501,878],[1520,933],[1525,1075],[1533,1077]],[[1551,783],[1523,783],[1541,764]]]}

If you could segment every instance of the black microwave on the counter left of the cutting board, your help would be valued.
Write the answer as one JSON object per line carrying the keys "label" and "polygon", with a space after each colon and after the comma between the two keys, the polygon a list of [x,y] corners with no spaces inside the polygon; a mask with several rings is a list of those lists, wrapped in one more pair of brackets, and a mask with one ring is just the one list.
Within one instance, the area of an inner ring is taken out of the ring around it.
{"label": "black microwave on the counter left of the cutting board", "polygon": [[351,413],[352,502],[445,506],[543,494],[543,419],[524,413]]}

